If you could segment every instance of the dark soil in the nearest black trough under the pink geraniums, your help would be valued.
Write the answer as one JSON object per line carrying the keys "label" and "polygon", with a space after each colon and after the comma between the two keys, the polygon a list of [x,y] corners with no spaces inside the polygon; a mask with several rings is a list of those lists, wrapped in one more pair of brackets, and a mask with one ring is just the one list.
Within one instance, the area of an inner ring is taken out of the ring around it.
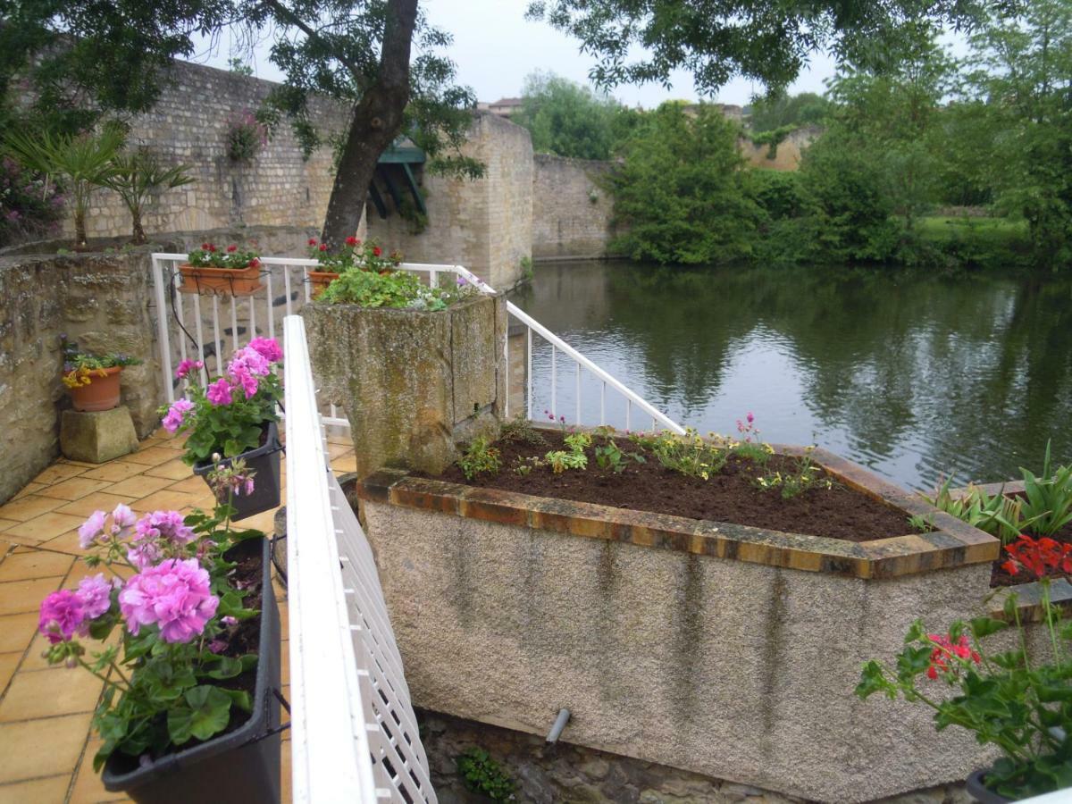
{"label": "dark soil in the nearest black trough under the pink geraniums", "polygon": [[[234,575],[232,576],[232,584],[240,585],[242,589],[247,590],[245,597],[242,598],[242,605],[247,609],[259,609],[262,608],[262,595],[264,590],[262,586],[262,578],[264,577],[264,570],[262,569],[262,549],[260,539],[250,539],[236,545],[226,554],[228,561],[237,563],[235,567]],[[223,637],[221,636],[221,639]],[[238,658],[248,653],[256,654],[260,640],[260,614],[252,616],[249,620],[241,621],[235,628],[235,632],[227,637],[227,646],[221,653],[224,656],[230,656],[232,658]],[[250,700],[255,698],[255,689],[257,685],[257,669],[253,667],[247,670],[244,673],[236,675],[234,679],[226,679],[223,681],[213,681],[213,684],[220,687],[226,687],[227,689],[240,689],[249,694]],[[212,740],[215,740],[224,734],[229,734],[235,731],[240,726],[245,724],[250,717],[253,716],[252,712],[242,712],[242,710],[237,706],[230,710],[230,721],[227,724],[227,728],[218,734],[212,735]],[[191,739],[189,742],[183,743],[181,746],[177,746],[178,750],[188,750],[200,745],[204,741],[197,738]],[[175,750],[173,747],[170,750]],[[138,768],[137,757],[130,757],[120,751],[116,751],[114,755],[114,772],[116,774],[125,774],[134,771]],[[157,759],[157,757],[153,757]]]}

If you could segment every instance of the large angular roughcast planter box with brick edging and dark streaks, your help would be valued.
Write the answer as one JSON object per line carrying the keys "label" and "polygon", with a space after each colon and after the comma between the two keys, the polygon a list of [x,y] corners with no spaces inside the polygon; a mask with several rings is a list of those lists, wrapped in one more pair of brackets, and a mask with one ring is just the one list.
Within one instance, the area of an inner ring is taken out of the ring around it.
{"label": "large angular roughcast planter box with brick edging and dark streaks", "polygon": [[[903,510],[906,535],[852,544],[367,477],[355,493],[415,704],[535,734],[565,706],[566,742],[828,802],[989,764],[926,708],[852,690],[914,619],[980,613],[998,541],[816,459]],[[911,513],[940,530],[908,534]]]}

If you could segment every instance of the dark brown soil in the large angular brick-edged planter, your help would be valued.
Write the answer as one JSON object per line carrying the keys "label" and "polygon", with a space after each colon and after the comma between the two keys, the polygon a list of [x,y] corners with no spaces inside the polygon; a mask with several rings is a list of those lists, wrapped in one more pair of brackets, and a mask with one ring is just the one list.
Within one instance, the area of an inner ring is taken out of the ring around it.
{"label": "dark brown soil in the large angular brick-edged planter", "polygon": [[[652,455],[645,456],[646,463],[629,459],[626,468],[614,474],[597,466],[590,447],[586,450],[587,470],[567,470],[555,475],[549,467],[541,466],[528,475],[518,475],[513,466],[519,457],[542,458],[548,450],[563,448],[561,433],[541,432],[548,446],[496,443],[502,453],[502,468],[496,475],[481,474],[466,480],[461,468],[455,465],[436,479],[847,541],[869,541],[912,533],[904,511],[839,483],[832,489],[812,488],[783,500],[777,489],[757,488],[755,478],[763,470],[738,458],[730,458],[719,474],[702,480],[664,468]],[[625,453],[637,451],[628,441],[617,444]],[[798,459],[776,455],[771,456],[765,468],[785,474],[795,471],[796,465]],[[825,473],[820,475],[825,476]]]}

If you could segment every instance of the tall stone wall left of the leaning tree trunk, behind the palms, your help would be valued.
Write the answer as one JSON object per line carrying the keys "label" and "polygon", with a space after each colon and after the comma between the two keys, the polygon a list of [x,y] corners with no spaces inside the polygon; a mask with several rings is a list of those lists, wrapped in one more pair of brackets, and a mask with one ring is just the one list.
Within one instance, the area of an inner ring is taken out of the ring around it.
{"label": "tall stone wall left of the leaning tree trunk, behind the palms", "polygon": [[[334,178],[330,147],[309,160],[284,120],[249,164],[226,152],[228,121],[253,111],[278,85],[223,70],[176,61],[169,81],[151,111],[130,121],[129,142],[144,145],[169,164],[184,163],[196,179],[160,195],[145,218],[154,232],[211,229],[236,224],[319,226]],[[312,103],[323,134],[341,131],[348,111],[325,100]],[[64,224],[73,232],[70,220]],[[131,218],[119,196],[93,194],[91,237],[129,235]]]}

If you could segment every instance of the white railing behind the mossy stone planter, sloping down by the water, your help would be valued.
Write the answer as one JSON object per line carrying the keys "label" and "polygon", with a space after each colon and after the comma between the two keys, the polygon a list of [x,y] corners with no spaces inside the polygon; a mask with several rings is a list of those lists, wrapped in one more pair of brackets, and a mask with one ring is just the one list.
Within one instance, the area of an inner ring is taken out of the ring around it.
{"label": "white railing behind the mossy stone planter, sloping down by the water", "polygon": [[[252,296],[236,299],[234,296],[202,296],[178,292],[181,278],[178,265],[187,259],[185,254],[158,253],[152,255],[153,291],[157,300],[157,338],[161,355],[161,372],[167,402],[175,401],[175,385],[173,369],[178,360],[189,357],[204,359],[202,379],[212,373],[220,373],[221,360],[236,348],[248,342],[257,333],[274,338],[277,318],[281,315],[293,315],[311,300],[311,285],[306,279],[309,268],[316,268],[315,259],[304,257],[262,257],[263,285]],[[442,274],[461,277],[483,293],[495,293],[495,289],[476,277],[472,271],[460,265],[402,263],[402,270],[412,271],[427,278],[432,286],[437,286]],[[457,280],[455,280],[457,281]],[[282,295],[278,295],[282,292]],[[277,308],[279,308],[277,310]],[[624,423],[627,430],[632,429],[635,410],[637,416],[650,418],[653,430],[665,428],[675,433],[684,433],[685,429],[643,397],[628,388],[616,377],[601,369],[587,357],[559,338],[554,332],[542,326],[513,302],[506,302],[509,316],[525,328],[525,415],[533,419],[534,411],[534,374],[533,345],[534,338],[541,338],[551,347],[550,356],[550,413],[554,417],[566,416],[574,425],[607,425]],[[169,314],[170,313],[170,314]],[[228,330],[229,324],[229,330]],[[244,331],[243,331],[244,330]],[[207,339],[207,340],[206,340]],[[506,366],[510,367],[510,343],[506,339]],[[560,358],[572,363],[574,371],[574,405],[572,411],[559,411],[557,387],[560,374],[564,371],[559,367]],[[214,362],[214,366],[213,366]],[[214,371],[213,371],[214,369]],[[585,420],[582,414],[582,376],[592,377],[598,385],[599,415]],[[504,403],[507,417],[510,412],[509,383]],[[625,401],[624,421],[608,421],[608,390],[616,393]],[[326,425],[349,427],[345,416],[334,403],[327,407],[324,417]]]}

